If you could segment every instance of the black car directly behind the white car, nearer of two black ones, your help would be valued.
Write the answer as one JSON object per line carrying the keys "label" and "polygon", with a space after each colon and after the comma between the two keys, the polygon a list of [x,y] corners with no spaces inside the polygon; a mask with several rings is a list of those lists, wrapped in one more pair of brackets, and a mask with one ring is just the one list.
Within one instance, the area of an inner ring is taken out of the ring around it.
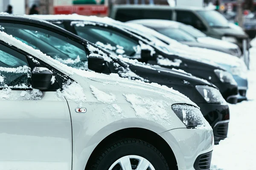
{"label": "black car directly behind the white car, nearer of two black ones", "polygon": [[[87,40],[42,20],[0,15],[0,25],[1,30],[7,34],[12,34],[18,40],[72,67],[104,74],[116,73],[120,77],[172,87],[201,108],[204,117],[214,129],[215,144],[227,137],[228,105],[215,85],[203,79],[180,70],[142,65],[135,60],[128,59],[124,62]],[[146,52],[142,51],[142,55],[147,55]]]}

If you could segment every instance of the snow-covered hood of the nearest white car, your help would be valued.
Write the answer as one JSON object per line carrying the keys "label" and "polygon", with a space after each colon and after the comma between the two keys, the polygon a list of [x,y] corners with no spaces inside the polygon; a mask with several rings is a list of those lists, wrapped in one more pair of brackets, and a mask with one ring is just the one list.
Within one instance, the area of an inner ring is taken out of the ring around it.
{"label": "snow-covered hood of the nearest white car", "polygon": [[88,79],[96,83],[96,88],[100,91],[108,92],[115,96],[122,96],[123,94],[134,94],[141,97],[151,97],[155,99],[162,99],[169,103],[169,105],[177,103],[186,103],[197,106],[188,97],[178,91],[168,88],[157,83],[145,83],[140,80],[129,80],[119,77],[118,74],[99,74],[93,71],[76,71],[76,74],[70,76],[84,89],[87,88]]}

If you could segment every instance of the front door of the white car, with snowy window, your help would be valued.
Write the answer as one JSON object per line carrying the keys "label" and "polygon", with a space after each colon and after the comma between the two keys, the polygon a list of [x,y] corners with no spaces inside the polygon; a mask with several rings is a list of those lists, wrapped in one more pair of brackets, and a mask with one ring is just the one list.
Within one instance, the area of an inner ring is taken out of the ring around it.
{"label": "front door of the white car, with snowy window", "polygon": [[[44,63],[0,42],[0,169],[71,170],[72,131],[65,99],[31,87],[31,70]],[[49,68],[49,66],[48,66]]]}

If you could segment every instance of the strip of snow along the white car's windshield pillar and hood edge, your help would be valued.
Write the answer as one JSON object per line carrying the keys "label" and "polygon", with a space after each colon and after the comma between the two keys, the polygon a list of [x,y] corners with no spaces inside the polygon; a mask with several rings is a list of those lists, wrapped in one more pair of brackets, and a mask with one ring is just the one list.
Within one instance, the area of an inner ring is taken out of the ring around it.
{"label": "strip of snow along the white car's windshield pillar and hood edge", "polygon": [[166,91],[168,91],[171,94],[177,94],[178,96],[181,97],[180,99],[183,99],[183,102],[186,101],[186,102],[192,103],[193,105],[196,106],[196,104],[193,103],[191,100],[189,100],[188,97],[186,97],[185,95],[181,94],[178,91],[173,90],[172,88],[168,88],[165,85],[159,85],[157,83],[145,83],[140,80],[131,81],[129,79],[121,78],[121,77],[117,77],[117,76],[113,76],[113,75],[106,75],[106,74],[96,73],[93,71],[84,71],[81,69],[78,70],[76,68],[71,68],[61,62],[58,62],[55,59],[52,59],[51,57],[47,56],[46,54],[43,54],[40,50],[36,50],[36,49],[32,48],[31,46],[26,45],[25,43],[21,42],[20,40],[15,39],[14,37],[12,37],[12,35],[8,35],[2,31],[0,31],[0,40],[2,40],[3,42],[6,42],[9,45],[13,45],[16,48],[19,48],[19,49],[25,51],[29,55],[34,56],[34,57],[42,60],[43,62],[46,62],[47,64],[51,65],[53,68],[57,69],[58,71],[63,72],[67,76],[72,76],[73,74],[77,74],[81,77],[99,78],[99,79],[111,80],[114,82],[116,82],[116,81],[126,82],[129,84],[134,84],[134,85],[137,85],[140,87],[145,87],[145,88],[151,87],[151,89],[155,89],[155,91],[163,91],[163,93],[166,93]]}

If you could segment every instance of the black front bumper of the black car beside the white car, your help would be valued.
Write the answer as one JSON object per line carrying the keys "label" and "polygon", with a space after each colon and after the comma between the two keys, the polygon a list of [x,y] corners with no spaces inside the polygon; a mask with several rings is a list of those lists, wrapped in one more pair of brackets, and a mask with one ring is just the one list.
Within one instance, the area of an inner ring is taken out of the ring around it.
{"label": "black front bumper of the black car beside the white car", "polygon": [[[230,111],[228,105],[196,103],[200,108],[204,118],[209,122],[213,129],[214,143],[218,144],[220,140],[227,137],[228,122],[230,119]],[[225,125],[222,124],[226,122]]]}

